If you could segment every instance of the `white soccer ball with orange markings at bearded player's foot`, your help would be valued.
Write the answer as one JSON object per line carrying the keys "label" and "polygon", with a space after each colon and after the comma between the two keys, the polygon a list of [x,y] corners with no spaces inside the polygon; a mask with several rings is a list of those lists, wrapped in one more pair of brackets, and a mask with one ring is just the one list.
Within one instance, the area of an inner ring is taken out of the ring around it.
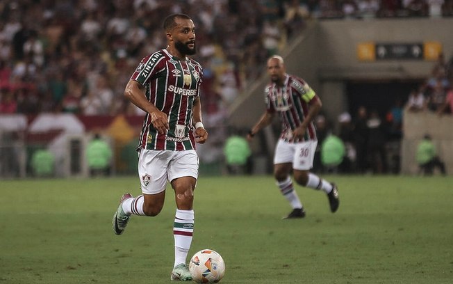
{"label": "white soccer ball with orange markings at bearded player's foot", "polygon": [[189,271],[197,283],[217,283],[225,275],[225,262],[216,251],[203,249],[190,259]]}

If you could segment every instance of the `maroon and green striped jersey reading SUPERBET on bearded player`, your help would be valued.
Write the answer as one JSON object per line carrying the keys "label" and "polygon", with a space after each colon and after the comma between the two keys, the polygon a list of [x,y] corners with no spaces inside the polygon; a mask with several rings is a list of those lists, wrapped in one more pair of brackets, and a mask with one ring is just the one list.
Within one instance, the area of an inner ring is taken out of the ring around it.
{"label": "maroon and green striped jersey reading SUPERBET on bearded player", "polygon": [[157,109],[166,113],[170,129],[159,134],[145,115],[138,148],[149,150],[195,150],[192,111],[203,70],[191,58],[180,61],[166,49],[142,59],[131,80],[145,86],[145,95]]}

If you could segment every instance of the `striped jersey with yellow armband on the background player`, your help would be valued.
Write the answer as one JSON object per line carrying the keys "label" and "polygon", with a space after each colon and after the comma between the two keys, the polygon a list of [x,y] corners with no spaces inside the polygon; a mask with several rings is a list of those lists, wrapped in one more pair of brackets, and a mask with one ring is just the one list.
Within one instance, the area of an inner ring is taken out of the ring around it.
{"label": "striped jersey with yellow armband on the background player", "polygon": [[[266,109],[270,113],[279,113],[281,119],[280,139],[287,142],[298,142],[293,138],[293,130],[301,125],[308,103],[317,100],[315,91],[298,77],[286,74],[283,86],[270,83],[265,88]],[[317,140],[315,125],[309,123],[302,141]]]}

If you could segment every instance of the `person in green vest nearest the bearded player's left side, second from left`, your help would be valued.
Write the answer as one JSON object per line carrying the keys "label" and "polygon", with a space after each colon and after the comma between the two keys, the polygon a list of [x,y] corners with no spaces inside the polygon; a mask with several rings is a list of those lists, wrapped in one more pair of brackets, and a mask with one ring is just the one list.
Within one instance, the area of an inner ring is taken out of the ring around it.
{"label": "person in green vest nearest the bearded player's left side, second from left", "polygon": [[86,149],[90,175],[109,175],[112,156],[110,145],[102,140],[99,134],[94,134],[94,138],[88,143]]}

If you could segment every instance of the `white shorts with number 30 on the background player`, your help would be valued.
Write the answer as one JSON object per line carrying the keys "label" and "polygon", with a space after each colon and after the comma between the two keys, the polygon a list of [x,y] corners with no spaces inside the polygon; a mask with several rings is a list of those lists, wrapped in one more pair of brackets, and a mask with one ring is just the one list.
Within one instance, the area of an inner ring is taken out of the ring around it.
{"label": "white shorts with number 30 on the background player", "polygon": [[274,164],[293,164],[293,169],[308,171],[313,168],[313,159],[318,141],[288,143],[279,139],[275,147]]}

